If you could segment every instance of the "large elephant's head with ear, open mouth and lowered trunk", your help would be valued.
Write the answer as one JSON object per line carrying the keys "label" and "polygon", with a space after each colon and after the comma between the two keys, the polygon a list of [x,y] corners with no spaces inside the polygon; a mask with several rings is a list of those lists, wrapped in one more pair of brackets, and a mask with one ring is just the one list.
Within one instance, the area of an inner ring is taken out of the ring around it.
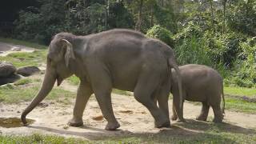
{"label": "large elephant's head with ear, open mouth and lowered trunk", "polygon": [[47,54],[46,74],[38,94],[30,102],[30,105],[26,107],[26,110],[22,112],[21,118],[23,124],[26,124],[26,114],[29,114],[39,102],[46,98],[56,81],[59,86],[64,78],[68,78],[74,74],[69,68],[70,60],[75,58],[73,46],[70,43],[73,40],[74,35],[60,33],[55,35],[50,42]]}

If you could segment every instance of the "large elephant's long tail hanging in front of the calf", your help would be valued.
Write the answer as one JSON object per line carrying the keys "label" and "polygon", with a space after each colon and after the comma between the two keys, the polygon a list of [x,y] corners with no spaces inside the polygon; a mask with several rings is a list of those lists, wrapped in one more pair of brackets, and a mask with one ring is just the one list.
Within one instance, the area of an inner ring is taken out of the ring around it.
{"label": "large elephant's long tail hanging in front of the calf", "polygon": [[169,64],[174,70],[176,71],[177,74],[177,80],[178,80],[178,93],[179,93],[179,108],[182,108],[182,75],[181,71],[178,69],[178,65],[173,59],[169,60]]}

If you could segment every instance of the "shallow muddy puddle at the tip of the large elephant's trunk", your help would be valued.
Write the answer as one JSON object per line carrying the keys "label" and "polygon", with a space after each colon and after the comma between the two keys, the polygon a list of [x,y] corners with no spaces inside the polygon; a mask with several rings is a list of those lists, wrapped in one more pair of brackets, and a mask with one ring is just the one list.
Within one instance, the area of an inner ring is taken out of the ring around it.
{"label": "shallow muddy puddle at the tip of the large elephant's trunk", "polygon": [[[34,119],[26,118],[27,124],[32,124],[35,122]],[[21,127],[23,126],[21,118],[0,118],[0,127]]]}

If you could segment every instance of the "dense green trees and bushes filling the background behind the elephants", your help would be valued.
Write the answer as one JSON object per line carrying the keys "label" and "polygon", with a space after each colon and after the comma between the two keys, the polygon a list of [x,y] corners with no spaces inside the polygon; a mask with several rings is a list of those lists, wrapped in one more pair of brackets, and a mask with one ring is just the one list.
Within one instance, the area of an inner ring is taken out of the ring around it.
{"label": "dense green trees and bushes filling the background behind the elephants", "polygon": [[226,85],[256,86],[255,0],[9,0],[0,21],[2,37],[44,45],[61,31],[138,30],[170,45],[180,65],[205,64]]}

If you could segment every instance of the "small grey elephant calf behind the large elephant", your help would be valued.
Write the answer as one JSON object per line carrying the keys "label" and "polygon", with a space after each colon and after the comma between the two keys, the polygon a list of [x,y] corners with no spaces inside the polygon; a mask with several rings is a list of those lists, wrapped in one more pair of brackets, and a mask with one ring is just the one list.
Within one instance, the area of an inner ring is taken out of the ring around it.
{"label": "small grey elephant calf behind the large elephant", "polygon": [[[214,110],[214,122],[222,122],[225,109],[222,76],[216,70],[203,65],[190,64],[179,66],[178,68],[182,76],[182,101],[184,102],[186,99],[192,102],[202,102],[201,114],[196,119],[206,121],[211,106]],[[179,95],[178,82],[174,70],[171,79],[172,86],[170,91],[174,96],[172,120],[184,121],[183,109],[176,109],[176,107],[179,107],[179,102],[177,101]],[[221,110],[222,98],[223,107]]]}

